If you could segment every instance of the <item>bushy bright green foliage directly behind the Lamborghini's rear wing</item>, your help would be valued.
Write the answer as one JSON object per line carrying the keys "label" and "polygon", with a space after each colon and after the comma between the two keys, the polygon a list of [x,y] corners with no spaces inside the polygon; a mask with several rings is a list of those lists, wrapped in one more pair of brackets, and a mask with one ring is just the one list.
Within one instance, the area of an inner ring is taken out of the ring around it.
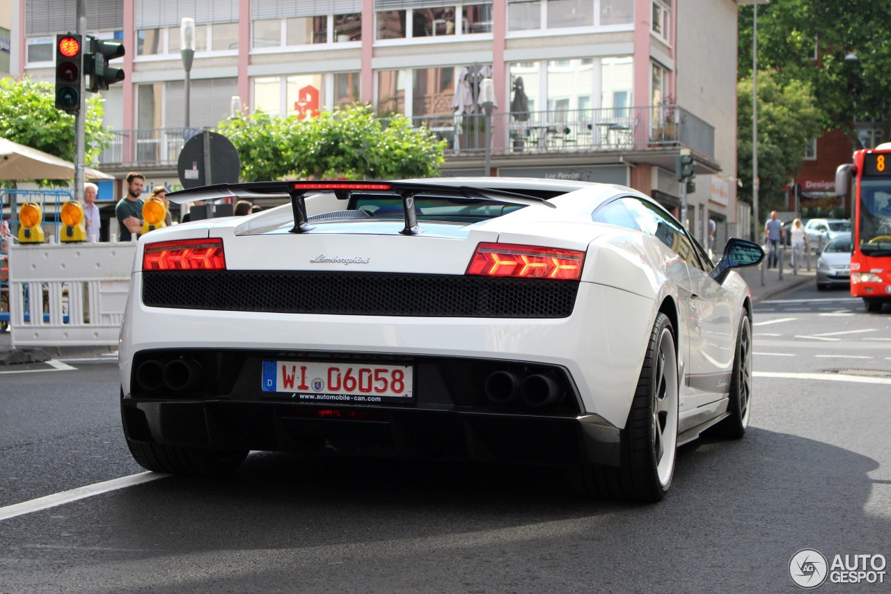
{"label": "bushy bright green foliage directly behind the Lamborghini's rear wing", "polygon": [[257,110],[220,122],[217,131],[238,150],[245,182],[430,177],[437,175],[446,148],[405,116],[382,121],[361,105],[315,118]]}

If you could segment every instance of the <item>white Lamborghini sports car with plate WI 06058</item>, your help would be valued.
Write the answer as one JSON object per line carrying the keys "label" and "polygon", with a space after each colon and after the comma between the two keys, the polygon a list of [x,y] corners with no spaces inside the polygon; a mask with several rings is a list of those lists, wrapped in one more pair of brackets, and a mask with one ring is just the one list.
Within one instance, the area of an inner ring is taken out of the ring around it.
{"label": "white Lamborghini sports car with plate WI 06058", "polygon": [[270,182],[290,196],[147,233],[120,334],[124,432],[144,468],[224,475],[251,450],[582,468],[654,501],[675,450],[740,437],[752,303],[654,200],[511,178]]}

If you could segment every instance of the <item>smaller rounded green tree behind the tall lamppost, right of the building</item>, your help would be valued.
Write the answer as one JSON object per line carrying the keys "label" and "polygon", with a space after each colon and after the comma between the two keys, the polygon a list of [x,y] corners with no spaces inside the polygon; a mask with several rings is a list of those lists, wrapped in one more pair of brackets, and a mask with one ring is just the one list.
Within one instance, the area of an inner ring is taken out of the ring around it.
{"label": "smaller rounded green tree behind the tall lamppost, right of the building", "polygon": [[[740,80],[737,94],[737,172],[740,199],[752,195],[752,78]],[[771,71],[758,69],[759,201],[766,210],[780,207],[783,187],[795,175],[808,139],[822,131],[822,119],[810,86],[780,84]],[[760,216],[760,213],[759,213]]]}

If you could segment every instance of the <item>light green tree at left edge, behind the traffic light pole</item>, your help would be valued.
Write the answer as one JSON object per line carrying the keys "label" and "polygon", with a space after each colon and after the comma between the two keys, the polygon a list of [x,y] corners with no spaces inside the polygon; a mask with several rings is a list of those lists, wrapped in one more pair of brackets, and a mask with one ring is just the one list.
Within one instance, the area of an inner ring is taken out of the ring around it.
{"label": "light green tree at left edge, behind the traffic light pole", "polygon": [[[0,80],[0,136],[73,161],[74,116],[56,109],[54,93],[52,83],[29,78]],[[90,95],[86,101],[85,155],[89,167],[99,166],[99,153],[111,141],[111,133],[102,126],[102,113],[102,100]]]}

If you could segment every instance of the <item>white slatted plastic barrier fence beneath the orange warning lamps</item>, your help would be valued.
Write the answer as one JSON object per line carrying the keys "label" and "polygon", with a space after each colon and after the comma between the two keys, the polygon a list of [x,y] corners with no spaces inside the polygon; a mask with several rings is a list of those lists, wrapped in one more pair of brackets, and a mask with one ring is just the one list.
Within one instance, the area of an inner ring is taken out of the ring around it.
{"label": "white slatted plastic barrier fence beneath the orange warning lamps", "polygon": [[12,245],[12,346],[113,346],[124,319],[135,242]]}

